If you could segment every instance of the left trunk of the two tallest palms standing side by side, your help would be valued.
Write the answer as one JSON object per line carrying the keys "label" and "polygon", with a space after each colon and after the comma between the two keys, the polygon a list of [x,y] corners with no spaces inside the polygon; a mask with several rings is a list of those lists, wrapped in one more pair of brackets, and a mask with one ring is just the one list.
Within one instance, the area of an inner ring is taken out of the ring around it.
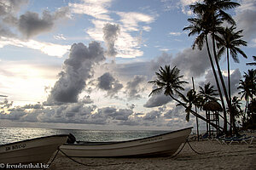
{"label": "left trunk of the two tallest palms standing side by side", "polygon": [[210,59],[210,63],[212,65],[212,72],[213,72],[213,75],[215,77],[215,81],[216,81],[216,84],[217,84],[217,88],[218,88],[218,94],[219,94],[219,98],[220,98],[220,101],[221,101],[221,104],[222,104],[222,107],[223,107],[223,116],[224,116],[224,133],[227,133],[227,113],[226,113],[226,110],[225,110],[225,105],[224,105],[224,99],[223,99],[223,95],[221,93],[221,88],[219,86],[219,83],[218,83],[218,77],[217,77],[217,73],[215,71],[215,67],[213,65],[213,61],[212,61],[212,55],[210,53],[210,48],[209,48],[209,44],[208,44],[208,38],[206,36],[206,42],[207,42],[207,52],[208,52],[208,57]]}

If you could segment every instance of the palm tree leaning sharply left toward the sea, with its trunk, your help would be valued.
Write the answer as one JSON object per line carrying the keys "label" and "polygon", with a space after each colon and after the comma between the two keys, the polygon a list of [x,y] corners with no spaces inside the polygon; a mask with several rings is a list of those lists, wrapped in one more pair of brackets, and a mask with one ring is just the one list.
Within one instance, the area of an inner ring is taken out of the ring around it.
{"label": "palm tree leaning sharply left toward the sea, with its trunk", "polygon": [[[189,109],[187,105],[174,97],[175,94],[177,94],[178,96],[183,95],[180,90],[183,91],[183,84],[188,83],[180,80],[183,76],[180,76],[179,73],[180,70],[177,69],[176,66],[172,69],[170,68],[170,65],[166,65],[164,68],[160,67],[159,72],[155,72],[157,78],[153,81],[149,81],[149,83],[156,85],[158,88],[152,90],[149,96],[152,94],[160,94],[164,92],[165,95],[169,95],[173,100],[177,101],[177,103],[179,105],[182,105],[186,110],[188,109],[192,115],[201,118],[201,120],[205,122],[208,122],[205,117]],[[209,123],[212,125],[212,127],[218,128],[218,126],[216,126],[214,123]]]}

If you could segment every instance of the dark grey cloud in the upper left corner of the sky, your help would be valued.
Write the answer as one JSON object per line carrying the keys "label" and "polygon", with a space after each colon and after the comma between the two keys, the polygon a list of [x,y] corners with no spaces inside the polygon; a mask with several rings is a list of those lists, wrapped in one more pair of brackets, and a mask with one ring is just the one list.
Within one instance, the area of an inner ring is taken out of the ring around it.
{"label": "dark grey cloud in the upper left corner of the sky", "polygon": [[68,12],[67,7],[59,8],[54,14],[44,10],[40,18],[38,13],[27,11],[20,15],[18,20],[19,31],[26,38],[35,37],[42,32],[50,31],[55,25],[55,21],[67,17]]}

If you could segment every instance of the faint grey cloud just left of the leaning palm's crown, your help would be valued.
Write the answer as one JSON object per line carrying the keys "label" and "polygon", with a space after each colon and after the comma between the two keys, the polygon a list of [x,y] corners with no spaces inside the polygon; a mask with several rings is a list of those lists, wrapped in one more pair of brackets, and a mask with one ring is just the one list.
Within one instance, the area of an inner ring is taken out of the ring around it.
{"label": "faint grey cloud just left of the leaning palm's crown", "polygon": [[145,83],[147,77],[136,75],[133,79],[126,84],[126,92],[128,99],[139,99],[141,94],[144,91],[143,83]]}

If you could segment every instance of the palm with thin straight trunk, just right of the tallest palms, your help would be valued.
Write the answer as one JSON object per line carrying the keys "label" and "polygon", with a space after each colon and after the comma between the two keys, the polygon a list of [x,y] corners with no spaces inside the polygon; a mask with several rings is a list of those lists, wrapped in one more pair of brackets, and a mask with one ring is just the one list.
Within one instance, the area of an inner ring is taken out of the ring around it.
{"label": "palm with thin straight trunk, just right of the tallest palms", "polygon": [[220,37],[216,37],[218,42],[217,42],[217,47],[219,48],[218,51],[218,57],[222,54],[224,54],[225,49],[227,49],[227,64],[228,64],[228,89],[229,89],[229,97],[231,100],[231,88],[230,88],[230,54],[234,61],[236,63],[239,63],[239,59],[237,57],[237,54],[241,54],[244,58],[247,58],[247,55],[240,49],[238,46],[247,46],[247,42],[241,40],[241,32],[240,31],[235,31],[236,26],[230,26],[226,27],[224,31],[221,33]]}

